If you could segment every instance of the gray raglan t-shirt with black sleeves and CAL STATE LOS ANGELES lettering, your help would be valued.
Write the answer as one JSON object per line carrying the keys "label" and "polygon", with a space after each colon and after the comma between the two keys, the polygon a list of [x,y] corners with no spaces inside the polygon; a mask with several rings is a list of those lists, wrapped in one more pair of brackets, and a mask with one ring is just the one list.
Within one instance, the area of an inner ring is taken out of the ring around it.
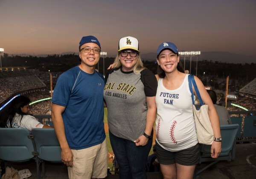
{"label": "gray raglan t-shirt with black sleeves and CAL STATE LOS ANGELES lettering", "polygon": [[139,74],[111,69],[105,80],[109,130],[117,137],[134,141],[145,131],[146,96],[156,95],[157,79],[148,69]]}

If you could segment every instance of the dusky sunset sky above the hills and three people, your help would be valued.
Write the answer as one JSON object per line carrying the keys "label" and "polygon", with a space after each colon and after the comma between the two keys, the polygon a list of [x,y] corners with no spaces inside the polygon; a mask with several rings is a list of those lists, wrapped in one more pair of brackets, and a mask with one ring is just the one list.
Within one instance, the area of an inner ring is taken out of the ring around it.
{"label": "dusky sunset sky above the hills and three people", "polygon": [[133,36],[142,54],[171,41],[180,51],[256,55],[255,19],[256,0],[0,0],[0,48],[78,52],[81,37],[94,35],[111,56]]}

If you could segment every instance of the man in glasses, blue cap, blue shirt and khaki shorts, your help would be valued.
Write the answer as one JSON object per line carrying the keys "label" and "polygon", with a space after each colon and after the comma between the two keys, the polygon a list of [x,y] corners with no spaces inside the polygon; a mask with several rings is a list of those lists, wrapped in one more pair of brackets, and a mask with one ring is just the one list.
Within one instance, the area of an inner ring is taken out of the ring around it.
{"label": "man in glasses, blue cap, blue shirt and khaki shorts", "polygon": [[100,50],[97,38],[83,37],[79,43],[81,64],[60,75],[52,96],[52,121],[70,179],[107,176],[105,79],[95,70]]}

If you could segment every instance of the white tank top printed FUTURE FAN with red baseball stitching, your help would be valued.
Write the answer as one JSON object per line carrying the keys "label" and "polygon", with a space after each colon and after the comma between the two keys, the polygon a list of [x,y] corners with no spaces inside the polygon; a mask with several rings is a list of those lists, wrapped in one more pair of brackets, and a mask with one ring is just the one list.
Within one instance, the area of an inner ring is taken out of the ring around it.
{"label": "white tank top printed FUTURE FAN with red baseball stitching", "polygon": [[198,143],[195,119],[192,109],[188,75],[176,90],[163,86],[163,78],[158,81],[156,141],[165,150],[172,152],[193,147]]}

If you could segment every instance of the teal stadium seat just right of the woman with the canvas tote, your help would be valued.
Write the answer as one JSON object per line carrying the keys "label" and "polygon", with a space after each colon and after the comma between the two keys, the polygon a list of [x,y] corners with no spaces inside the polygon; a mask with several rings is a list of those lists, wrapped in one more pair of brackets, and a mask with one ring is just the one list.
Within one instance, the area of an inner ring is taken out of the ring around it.
{"label": "teal stadium seat just right of the woman with the canvas tote", "polygon": [[211,145],[204,145],[201,144],[201,155],[199,164],[201,162],[211,162],[207,166],[203,167],[200,170],[195,171],[195,176],[202,173],[207,168],[211,167],[215,163],[221,160],[227,160],[231,161],[235,159],[235,153],[236,153],[236,134],[239,129],[239,124],[227,124],[227,125],[221,125],[221,153],[218,156],[217,159],[213,159],[211,157]]}

